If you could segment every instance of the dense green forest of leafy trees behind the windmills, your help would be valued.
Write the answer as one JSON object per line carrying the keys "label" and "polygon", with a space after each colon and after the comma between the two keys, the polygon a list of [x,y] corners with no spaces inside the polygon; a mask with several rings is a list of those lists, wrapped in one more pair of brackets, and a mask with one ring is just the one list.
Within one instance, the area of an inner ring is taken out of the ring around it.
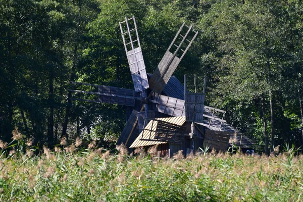
{"label": "dense green forest of leafy trees behind the windmills", "polygon": [[198,35],[174,75],[207,76],[206,104],[269,154],[303,143],[301,0],[0,0],[0,139],[115,145],[127,108],[72,101],[70,81],[133,89],[119,22],[136,17],[153,73],[180,25]]}

